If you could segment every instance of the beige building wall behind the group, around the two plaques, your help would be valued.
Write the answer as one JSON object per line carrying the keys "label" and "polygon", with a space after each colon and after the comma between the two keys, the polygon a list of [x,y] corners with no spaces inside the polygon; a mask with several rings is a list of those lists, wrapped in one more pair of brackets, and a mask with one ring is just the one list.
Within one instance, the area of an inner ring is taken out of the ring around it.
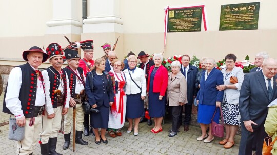
{"label": "beige building wall behind the group, around the two plaques", "polygon": [[[198,57],[223,59],[228,53],[234,53],[241,61],[248,54],[250,59],[259,51],[267,51],[277,58],[277,18],[275,6],[277,1],[262,0],[260,5],[258,30],[219,31],[220,7],[222,4],[242,3],[239,0],[142,0],[120,1],[120,18],[123,19],[123,33],[81,33],[81,34],[46,34],[46,22],[53,17],[52,1],[4,1],[0,0],[2,24],[0,45],[5,47],[0,58],[22,58],[22,51],[31,46],[46,47],[57,42],[62,47],[68,45],[66,35],[72,41],[94,40],[94,58],[104,55],[100,47],[105,42],[113,46],[121,34],[116,52],[123,58],[129,51],[138,54],[146,51],[149,54],[164,51],[164,7],[185,6],[205,3],[209,30],[201,32],[168,33],[165,57],[189,54]],[[90,1],[88,1],[90,6]],[[243,3],[255,2],[245,0]],[[64,6],[61,6],[61,11]],[[82,1],[74,6],[78,11],[77,18],[82,21]],[[99,6],[105,9],[105,6]],[[90,9],[88,9],[89,11]],[[81,53],[83,57],[83,53]],[[0,62],[1,64],[1,62]],[[12,64],[11,64],[12,65]]]}

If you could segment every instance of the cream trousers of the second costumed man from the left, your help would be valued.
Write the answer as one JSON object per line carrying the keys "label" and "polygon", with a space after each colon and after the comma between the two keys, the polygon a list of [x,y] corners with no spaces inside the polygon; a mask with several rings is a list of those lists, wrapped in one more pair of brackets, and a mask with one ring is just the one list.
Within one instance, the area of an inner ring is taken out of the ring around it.
{"label": "cream trousers of the second costumed man from the left", "polygon": [[61,128],[63,106],[54,108],[55,117],[52,119],[47,118],[46,115],[42,117],[42,144],[48,143],[49,138],[57,137],[58,131]]}

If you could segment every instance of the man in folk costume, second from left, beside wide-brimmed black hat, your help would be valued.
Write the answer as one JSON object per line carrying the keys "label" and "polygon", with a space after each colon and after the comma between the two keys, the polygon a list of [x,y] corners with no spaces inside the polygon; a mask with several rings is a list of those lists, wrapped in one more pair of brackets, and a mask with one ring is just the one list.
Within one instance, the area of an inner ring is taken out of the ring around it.
{"label": "man in folk costume, second from left, beside wide-brimmed black hat", "polygon": [[[42,154],[59,154],[56,152],[57,134],[63,133],[63,115],[69,108],[70,89],[68,76],[61,68],[63,65],[63,51],[57,43],[51,43],[46,51],[52,66],[42,71],[45,82],[47,104],[53,106],[53,111],[43,116],[41,133]],[[54,117],[53,119],[50,119]]]}

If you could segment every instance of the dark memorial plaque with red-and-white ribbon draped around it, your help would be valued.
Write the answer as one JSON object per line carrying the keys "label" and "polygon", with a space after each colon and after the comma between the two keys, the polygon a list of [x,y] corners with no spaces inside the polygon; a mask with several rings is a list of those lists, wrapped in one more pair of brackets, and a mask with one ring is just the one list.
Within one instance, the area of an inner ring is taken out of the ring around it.
{"label": "dark memorial plaque with red-and-white ribbon draped around it", "polygon": [[202,7],[170,9],[167,32],[201,31]]}

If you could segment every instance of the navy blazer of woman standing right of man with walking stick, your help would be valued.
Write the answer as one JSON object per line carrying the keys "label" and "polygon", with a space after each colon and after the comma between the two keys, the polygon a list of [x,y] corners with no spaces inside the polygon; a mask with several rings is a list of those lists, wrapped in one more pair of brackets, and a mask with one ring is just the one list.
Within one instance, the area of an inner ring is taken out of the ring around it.
{"label": "navy blazer of woman standing right of man with walking stick", "polygon": [[[112,79],[108,72],[103,71],[103,81],[100,81],[101,85],[103,82],[104,87],[95,87],[93,82],[93,77],[95,76],[95,71],[88,72],[86,76],[86,93],[88,97],[89,104],[92,106],[97,104],[97,107],[104,105],[105,107],[110,106],[110,102],[114,102],[114,92]],[[103,88],[105,90],[103,90]]]}

